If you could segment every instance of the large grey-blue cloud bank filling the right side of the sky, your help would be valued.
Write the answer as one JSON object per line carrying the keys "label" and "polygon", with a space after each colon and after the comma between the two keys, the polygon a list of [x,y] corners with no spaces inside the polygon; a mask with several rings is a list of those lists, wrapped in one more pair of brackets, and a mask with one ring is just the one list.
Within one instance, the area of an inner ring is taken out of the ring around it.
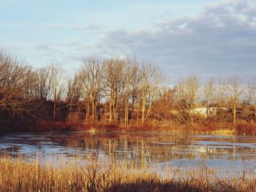
{"label": "large grey-blue cloud bank filling the right side of the sky", "polygon": [[97,46],[102,52],[138,55],[175,77],[198,74],[228,76],[256,73],[255,3],[246,0],[208,4],[197,15],[152,23],[138,31],[108,31]]}

